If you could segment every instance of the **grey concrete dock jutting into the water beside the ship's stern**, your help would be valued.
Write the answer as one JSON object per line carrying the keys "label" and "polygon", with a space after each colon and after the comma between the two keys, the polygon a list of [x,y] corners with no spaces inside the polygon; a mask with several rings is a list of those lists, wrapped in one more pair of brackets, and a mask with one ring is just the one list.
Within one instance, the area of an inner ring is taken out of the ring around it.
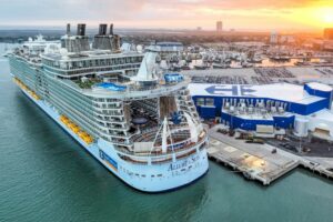
{"label": "grey concrete dock jutting into the water beside the ship's stern", "polygon": [[209,158],[242,173],[248,180],[269,185],[297,167],[333,179],[333,159],[305,158],[270,144],[246,143],[244,140],[222,134],[216,129],[214,127],[209,130]]}

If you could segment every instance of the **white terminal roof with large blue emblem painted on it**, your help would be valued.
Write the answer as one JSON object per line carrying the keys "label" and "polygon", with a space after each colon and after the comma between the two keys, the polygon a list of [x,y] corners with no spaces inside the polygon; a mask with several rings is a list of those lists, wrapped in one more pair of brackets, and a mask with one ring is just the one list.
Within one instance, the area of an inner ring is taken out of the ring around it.
{"label": "white terminal roof with large blue emblem painted on it", "polygon": [[[321,92],[332,92],[331,87],[321,83],[307,83],[306,87]],[[266,98],[299,104],[311,104],[325,99],[310,94],[303,85],[291,83],[262,85],[191,83],[189,89],[192,97]]]}

